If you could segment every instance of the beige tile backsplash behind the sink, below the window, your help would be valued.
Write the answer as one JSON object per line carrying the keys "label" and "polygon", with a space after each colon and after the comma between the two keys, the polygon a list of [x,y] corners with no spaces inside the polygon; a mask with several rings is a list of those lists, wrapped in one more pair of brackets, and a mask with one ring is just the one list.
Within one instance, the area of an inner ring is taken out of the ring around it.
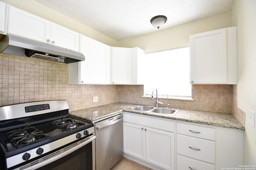
{"label": "beige tile backsplash behind the sink, below the window", "polygon": [[[168,100],[170,107],[212,111],[218,113],[232,112],[233,85],[192,85],[192,98],[194,101]],[[143,85],[120,85],[118,86],[118,102],[136,103],[154,106],[156,100],[142,98]],[[158,99],[164,102],[166,99]],[[163,107],[166,107],[166,103]]]}

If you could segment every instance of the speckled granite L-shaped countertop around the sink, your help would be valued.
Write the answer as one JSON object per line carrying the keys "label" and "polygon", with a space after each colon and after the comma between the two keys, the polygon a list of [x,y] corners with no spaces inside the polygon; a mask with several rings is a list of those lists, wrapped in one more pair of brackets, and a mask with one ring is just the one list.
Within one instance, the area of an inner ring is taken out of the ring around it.
{"label": "speckled granite L-shaped countertop around the sink", "polygon": [[[212,125],[219,127],[227,127],[232,129],[241,129],[245,128],[239,123],[239,121],[229,113],[215,113],[208,111],[194,111],[194,110],[185,110],[180,109],[178,113],[174,116],[168,115],[159,115],[155,113],[149,113],[146,111],[138,111],[129,109],[130,107],[138,106],[138,104],[127,104],[127,103],[113,103],[106,104],[102,106],[90,107],[86,109],[70,111],[70,115],[80,119],[84,119],[90,122],[97,122],[114,115],[122,113],[122,111],[136,113],[141,115],[149,115],[154,117],[162,117],[167,119],[173,119],[178,121],[187,121],[192,123],[199,123],[204,125]],[[97,111],[98,113],[95,113]],[[93,113],[94,112],[94,113]]]}

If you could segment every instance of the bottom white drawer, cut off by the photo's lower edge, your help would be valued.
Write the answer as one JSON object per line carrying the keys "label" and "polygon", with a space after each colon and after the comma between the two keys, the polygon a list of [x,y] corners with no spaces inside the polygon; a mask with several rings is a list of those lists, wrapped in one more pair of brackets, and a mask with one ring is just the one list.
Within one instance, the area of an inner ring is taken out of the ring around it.
{"label": "bottom white drawer, cut off by the photo's lower edge", "polygon": [[215,166],[177,155],[177,170],[214,170]]}

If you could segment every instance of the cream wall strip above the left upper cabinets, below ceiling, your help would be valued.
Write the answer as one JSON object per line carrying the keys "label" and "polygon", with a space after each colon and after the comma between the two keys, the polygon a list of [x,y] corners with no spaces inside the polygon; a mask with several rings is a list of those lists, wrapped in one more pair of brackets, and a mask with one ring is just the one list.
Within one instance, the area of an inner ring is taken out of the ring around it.
{"label": "cream wall strip above the left upper cabinets, below ceiling", "polygon": [[78,33],[86,35],[87,37],[90,37],[92,39],[96,39],[97,41],[100,41],[107,45],[114,46],[114,47],[118,45],[118,42],[116,40],[76,20],[73,20],[72,18],[65,16],[64,14],[61,14],[55,10],[52,10],[51,8],[48,8],[47,6],[40,4],[34,0],[1,0],[1,1],[6,2],[7,4],[20,8],[22,10],[25,10],[27,12],[30,12],[32,14],[35,14],[37,16],[40,16],[46,20],[52,21],[54,23],[57,23],[69,29],[72,29]]}

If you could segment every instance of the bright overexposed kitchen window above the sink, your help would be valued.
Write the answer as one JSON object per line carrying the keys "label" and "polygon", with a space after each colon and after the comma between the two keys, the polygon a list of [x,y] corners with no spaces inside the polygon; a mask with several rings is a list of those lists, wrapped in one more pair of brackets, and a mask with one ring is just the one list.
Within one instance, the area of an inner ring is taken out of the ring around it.
{"label": "bright overexposed kitchen window above the sink", "polygon": [[189,47],[147,53],[146,59],[148,74],[145,78],[144,97],[151,97],[152,90],[156,88],[158,98],[168,94],[172,99],[192,100]]}

